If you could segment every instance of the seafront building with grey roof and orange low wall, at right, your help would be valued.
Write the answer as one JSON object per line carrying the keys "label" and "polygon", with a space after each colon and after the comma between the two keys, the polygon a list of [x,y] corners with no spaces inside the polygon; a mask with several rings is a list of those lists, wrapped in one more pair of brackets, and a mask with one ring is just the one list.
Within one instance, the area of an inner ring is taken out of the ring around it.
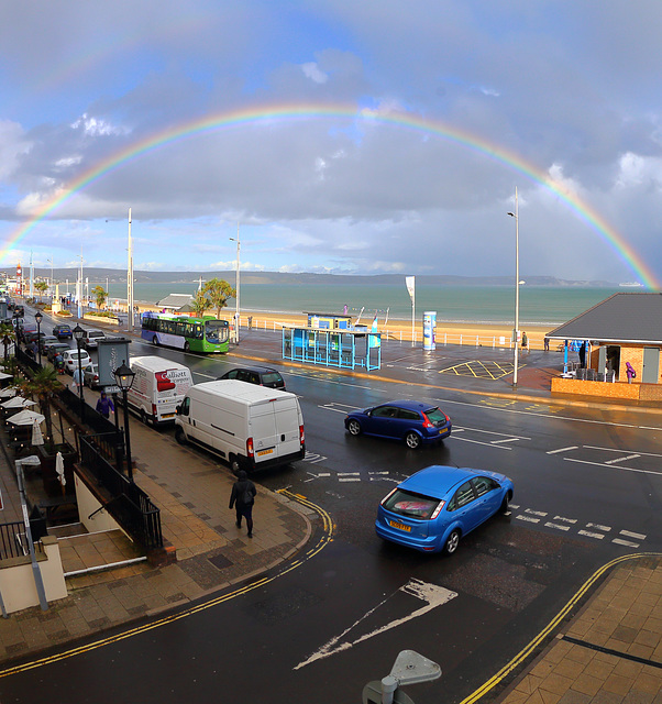
{"label": "seafront building with grey roof and orange low wall, at right", "polygon": [[552,393],[662,402],[661,293],[614,294],[547,337],[586,345],[585,366],[552,378]]}

